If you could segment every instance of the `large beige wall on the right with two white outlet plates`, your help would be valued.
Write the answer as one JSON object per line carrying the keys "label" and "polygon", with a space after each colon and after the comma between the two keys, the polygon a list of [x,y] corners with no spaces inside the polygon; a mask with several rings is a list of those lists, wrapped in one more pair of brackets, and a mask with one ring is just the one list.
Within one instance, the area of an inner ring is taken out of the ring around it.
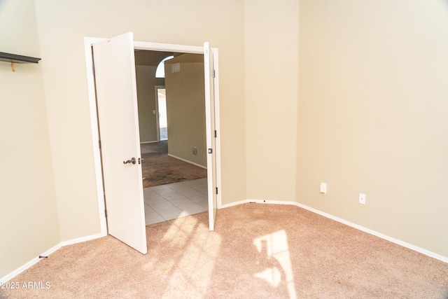
{"label": "large beige wall on the right with two white outlet plates", "polygon": [[447,1],[302,0],[299,40],[297,201],[448,257]]}

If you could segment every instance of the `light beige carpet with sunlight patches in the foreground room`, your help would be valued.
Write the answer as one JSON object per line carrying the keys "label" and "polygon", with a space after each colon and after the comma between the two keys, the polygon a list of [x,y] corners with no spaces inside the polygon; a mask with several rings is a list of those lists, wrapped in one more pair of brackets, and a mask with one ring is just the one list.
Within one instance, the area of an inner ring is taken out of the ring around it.
{"label": "light beige carpet with sunlight patches in the foreground room", "polygon": [[2,298],[447,298],[448,264],[294,206],[241,204],[63,247]]}

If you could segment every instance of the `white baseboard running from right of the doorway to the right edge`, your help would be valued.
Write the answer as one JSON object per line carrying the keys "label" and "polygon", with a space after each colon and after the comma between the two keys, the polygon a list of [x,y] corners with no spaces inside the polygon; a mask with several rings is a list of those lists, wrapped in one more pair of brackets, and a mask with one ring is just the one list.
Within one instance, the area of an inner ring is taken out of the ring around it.
{"label": "white baseboard running from right of the doorway to the right edge", "polygon": [[419,253],[424,254],[425,256],[430,256],[431,258],[435,258],[437,260],[442,260],[442,262],[448,263],[448,257],[447,256],[441,256],[440,254],[434,253],[433,251],[429,251],[429,250],[423,249],[423,248],[421,248],[419,246],[415,246],[413,244],[409,244],[407,242],[403,242],[400,239],[395,239],[394,237],[390,237],[388,235],[384,235],[381,232],[377,232],[375,230],[371,230],[370,228],[365,228],[365,227],[363,227],[361,225],[358,225],[356,223],[351,223],[350,221],[346,221],[346,220],[344,220],[342,218],[333,216],[331,214],[327,214],[327,213],[325,213],[323,211],[319,211],[318,209],[314,209],[314,208],[308,207],[308,206],[306,206],[304,204],[300,204],[298,202],[277,201],[277,200],[241,200],[239,202],[232,202],[231,204],[223,204],[222,208],[233,207],[233,206],[236,206],[238,204],[245,204],[245,203],[248,203],[248,202],[255,202],[255,203],[258,203],[258,204],[292,204],[292,205],[295,205],[296,207],[301,207],[302,209],[306,209],[308,211],[312,211],[315,214],[324,216],[325,218],[330,218],[330,219],[332,219],[334,221],[337,221],[339,223],[343,223],[345,225],[349,225],[352,228],[356,228],[357,230],[361,230],[363,232],[367,232],[367,234],[380,237],[381,239],[386,239],[389,242],[398,244],[400,246],[406,247],[406,248],[411,249],[413,251],[417,251]]}

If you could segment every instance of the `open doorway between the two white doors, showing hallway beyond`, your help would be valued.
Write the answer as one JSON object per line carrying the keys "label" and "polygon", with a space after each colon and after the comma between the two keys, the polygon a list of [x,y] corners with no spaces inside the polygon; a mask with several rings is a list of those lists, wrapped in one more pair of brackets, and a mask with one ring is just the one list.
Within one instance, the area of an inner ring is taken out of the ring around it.
{"label": "open doorway between the two white doors, showing hallway beyond", "polygon": [[135,57],[146,225],[208,211],[204,55]]}

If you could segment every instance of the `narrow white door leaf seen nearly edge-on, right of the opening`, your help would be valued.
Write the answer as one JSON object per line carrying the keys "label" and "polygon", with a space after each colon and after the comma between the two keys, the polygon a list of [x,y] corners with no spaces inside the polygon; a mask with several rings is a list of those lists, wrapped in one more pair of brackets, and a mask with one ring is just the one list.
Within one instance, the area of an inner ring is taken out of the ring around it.
{"label": "narrow white door leaf seen nearly edge-on, right of the opening", "polygon": [[216,218],[216,126],[214,106],[214,62],[208,42],[204,43],[205,123],[207,134],[207,183],[209,194],[209,230],[215,229]]}

